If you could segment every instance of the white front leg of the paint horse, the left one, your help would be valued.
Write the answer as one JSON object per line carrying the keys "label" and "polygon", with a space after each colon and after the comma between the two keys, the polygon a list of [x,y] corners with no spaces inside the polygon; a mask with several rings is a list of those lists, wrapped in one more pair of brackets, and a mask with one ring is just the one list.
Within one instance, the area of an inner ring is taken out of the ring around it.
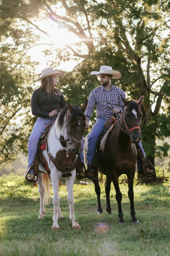
{"label": "white front leg of the paint horse, the left one", "polygon": [[53,190],[53,198],[52,202],[54,205],[54,215],[53,215],[53,225],[52,230],[58,230],[58,207],[60,202],[60,196],[59,196],[59,181],[61,179],[62,173],[58,170],[51,170],[51,183],[52,183],[52,190]]}

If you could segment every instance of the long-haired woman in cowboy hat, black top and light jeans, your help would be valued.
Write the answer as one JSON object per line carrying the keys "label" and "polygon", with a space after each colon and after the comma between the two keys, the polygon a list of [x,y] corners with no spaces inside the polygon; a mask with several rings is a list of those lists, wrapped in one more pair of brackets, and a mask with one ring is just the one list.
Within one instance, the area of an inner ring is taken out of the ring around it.
{"label": "long-haired woman in cowboy hat, black top and light jeans", "polygon": [[[32,114],[38,118],[29,137],[28,167],[33,165],[39,138],[45,131],[44,123],[49,123],[52,120],[52,117],[66,106],[62,92],[55,88],[58,80],[57,77],[64,76],[64,74],[53,68],[45,68],[42,70],[41,75],[42,76],[35,81],[41,81],[41,85],[34,90],[31,97],[31,111]],[[82,148],[84,147],[83,140],[81,146]],[[80,154],[80,158],[83,162],[83,152]],[[34,170],[31,168],[27,180],[35,179],[33,171]]]}

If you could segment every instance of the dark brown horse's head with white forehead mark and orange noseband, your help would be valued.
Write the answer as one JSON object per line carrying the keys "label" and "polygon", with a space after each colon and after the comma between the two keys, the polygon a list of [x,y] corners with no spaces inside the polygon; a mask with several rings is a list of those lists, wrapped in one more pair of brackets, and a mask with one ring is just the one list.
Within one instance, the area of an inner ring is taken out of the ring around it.
{"label": "dark brown horse's head with white forehead mark and orange noseband", "polygon": [[141,139],[140,126],[141,126],[141,117],[142,112],[140,105],[143,103],[144,96],[141,96],[138,101],[129,100],[122,98],[124,103],[123,111],[123,122],[125,124],[125,129],[130,133],[132,143],[138,144]]}

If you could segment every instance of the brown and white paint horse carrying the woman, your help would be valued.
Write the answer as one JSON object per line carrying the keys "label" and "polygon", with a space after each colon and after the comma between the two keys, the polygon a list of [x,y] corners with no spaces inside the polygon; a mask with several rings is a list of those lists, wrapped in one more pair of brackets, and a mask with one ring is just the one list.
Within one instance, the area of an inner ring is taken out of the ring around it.
{"label": "brown and white paint horse carrying the woman", "polygon": [[[76,106],[73,107],[68,102],[68,107],[65,106],[64,109],[60,112],[57,120],[54,125],[51,127],[47,142],[48,149],[50,154],[57,160],[57,162],[62,167],[70,167],[75,162],[78,157],[78,154],[82,151],[81,148],[81,140],[84,132],[84,128],[86,126],[85,115],[84,112],[87,108],[87,100],[84,102],[82,108]],[[69,118],[68,118],[69,116]],[[80,117],[80,124],[78,125],[78,117]],[[70,135],[71,143],[68,141],[60,141],[68,139],[68,132]],[[58,140],[60,139],[60,140]],[[71,153],[69,157],[66,157],[66,152],[71,149]],[[49,168],[51,170],[51,183],[53,189],[53,205],[54,205],[54,215],[53,215],[53,230],[58,230],[58,219],[63,218],[61,214],[61,209],[59,206],[60,196],[59,196],[59,181],[62,178],[62,172],[57,170],[54,164],[49,161],[47,151],[43,151],[43,156],[46,158],[49,164]],[[45,169],[42,165],[39,165],[39,170],[46,173]],[[71,171],[71,177],[66,178],[66,186],[67,186],[67,200],[69,203],[70,209],[70,220],[72,221],[72,227],[79,229],[80,226],[75,220],[74,214],[74,195],[73,195],[73,185],[76,177],[76,170]],[[44,174],[43,174],[44,175]],[[49,190],[50,182],[46,182],[42,173],[39,173],[39,177],[37,180],[38,191],[40,195],[40,214],[38,219],[42,219],[44,217],[45,208],[44,208],[44,194],[45,191]],[[44,175],[47,177],[47,175]],[[45,182],[43,182],[43,180]],[[48,181],[49,179],[47,179]],[[46,195],[46,194],[45,194]]]}

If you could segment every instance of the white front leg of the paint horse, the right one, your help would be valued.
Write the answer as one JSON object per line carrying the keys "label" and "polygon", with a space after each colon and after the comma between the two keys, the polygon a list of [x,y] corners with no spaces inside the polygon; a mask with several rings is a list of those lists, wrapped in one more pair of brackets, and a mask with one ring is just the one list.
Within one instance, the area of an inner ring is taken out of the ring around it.
{"label": "white front leg of the paint horse, the right one", "polygon": [[66,178],[66,186],[67,186],[67,200],[69,203],[70,209],[70,220],[72,221],[72,228],[80,229],[79,224],[76,221],[76,217],[74,215],[74,195],[73,195],[73,185],[76,177],[76,169],[72,172],[72,176]]}

